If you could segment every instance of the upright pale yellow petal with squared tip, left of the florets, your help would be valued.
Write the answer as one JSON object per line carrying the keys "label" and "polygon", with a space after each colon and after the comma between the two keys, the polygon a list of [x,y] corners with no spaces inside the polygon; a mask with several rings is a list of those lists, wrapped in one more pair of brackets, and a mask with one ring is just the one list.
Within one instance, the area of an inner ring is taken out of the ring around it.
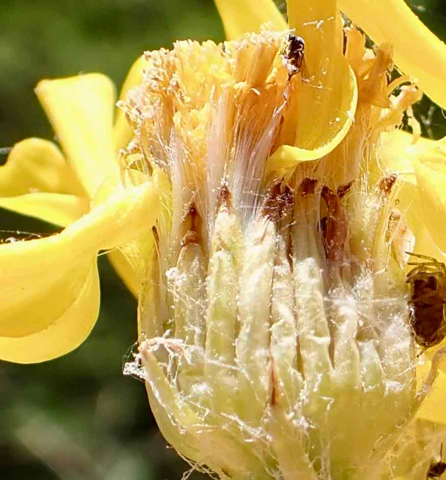
{"label": "upright pale yellow petal with squared tip, left of the florets", "polygon": [[113,148],[115,89],[100,74],[43,80],[36,87],[72,169],[90,197],[105,177],[119,178]]}

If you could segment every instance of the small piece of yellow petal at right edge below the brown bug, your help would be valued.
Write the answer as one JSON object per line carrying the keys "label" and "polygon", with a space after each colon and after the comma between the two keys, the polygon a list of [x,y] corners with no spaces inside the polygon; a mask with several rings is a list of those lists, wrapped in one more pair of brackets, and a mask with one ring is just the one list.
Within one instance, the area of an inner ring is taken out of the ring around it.
{"label": "small piece of yellow petal at right edge below the brown bug", "polygon": [[[426,361],[424,365],[419,365],[416,369],[417,388],[422,386],[423,381],[429,373],[431,362]],[[430,420],[434,423],[446,424],[446,409],[444,408],[444,392],[446,392],[446,373],[438,372],[431,392],[421,404],[416,416],[423,420]]]}

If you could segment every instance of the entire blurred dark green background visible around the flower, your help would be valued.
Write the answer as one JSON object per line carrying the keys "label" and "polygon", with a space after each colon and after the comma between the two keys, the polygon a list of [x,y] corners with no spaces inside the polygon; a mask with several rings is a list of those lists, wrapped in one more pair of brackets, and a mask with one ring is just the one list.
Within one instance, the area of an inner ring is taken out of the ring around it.
{"label": "entire blurred dark green background visible around the flower", "polygon": [[[119,86],[143,50],[223,39],[212,0],[2,0],[0,7],[0,147],[53,138],[33,93],[42,78],[101,71]],[[446,38],[444,0],[412,8]],[[428,99],[415,113],[426,120],[425,135],[446,134],[444,112]],[[1,209],[0,229],[55,231]],[[136,302],[105,257],[99,262],[102,308],[89,339],[45,364],[0,363],[2,479],[179,480],[189,469],[158,433],[143,383],[121,374],[136,340]]]}

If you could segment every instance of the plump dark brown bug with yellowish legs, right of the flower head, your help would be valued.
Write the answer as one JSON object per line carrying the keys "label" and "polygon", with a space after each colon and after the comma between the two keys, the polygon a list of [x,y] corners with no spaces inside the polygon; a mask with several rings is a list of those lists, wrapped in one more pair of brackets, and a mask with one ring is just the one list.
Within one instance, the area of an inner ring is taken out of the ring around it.
{"label": "plump dark brown bug with yellowish legs, right of the flower head", "polygon": [[433,257],[409,255],[424,260],[407,264],[414,266],[406,279],[412,289],[410,326],[416,343],[430,348],[446,337],[446,267]]}

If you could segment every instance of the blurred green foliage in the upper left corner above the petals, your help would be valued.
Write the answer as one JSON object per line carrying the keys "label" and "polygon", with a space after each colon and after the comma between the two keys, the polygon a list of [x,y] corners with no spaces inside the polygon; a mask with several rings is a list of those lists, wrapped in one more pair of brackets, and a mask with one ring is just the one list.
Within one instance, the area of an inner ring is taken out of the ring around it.
{"label": "blurred green foliage in the upper left corner above the petals", "polygon": [[223,38],[212,0],[2,0],[0,146],[51,137],[33,89],[42,78],[100,71],[119,86],[144,50]]}

